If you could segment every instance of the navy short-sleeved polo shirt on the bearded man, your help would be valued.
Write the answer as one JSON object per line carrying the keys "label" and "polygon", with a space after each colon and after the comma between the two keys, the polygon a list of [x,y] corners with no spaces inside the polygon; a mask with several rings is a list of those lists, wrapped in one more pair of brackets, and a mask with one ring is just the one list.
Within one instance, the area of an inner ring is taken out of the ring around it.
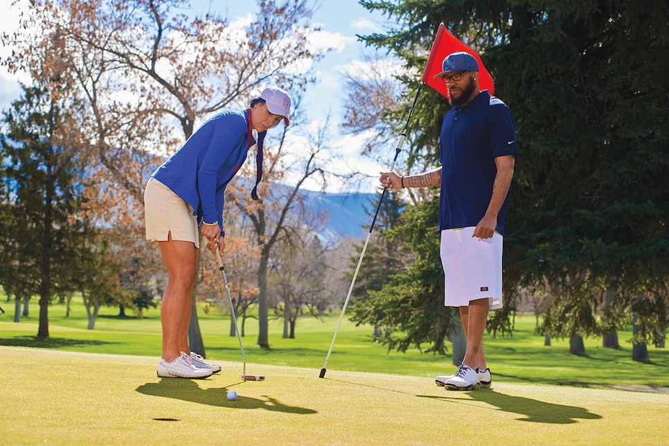
{"label": "navy short-sleeved polo shirt on the bearded man", "polygon": [[[509,107],[487,90],[464,107],[453,107],[441,126],[440,148],[439,230],[476,226],[492,197],[494,159],[518,152]],[[502,235],[509,195],[497,215]]]}

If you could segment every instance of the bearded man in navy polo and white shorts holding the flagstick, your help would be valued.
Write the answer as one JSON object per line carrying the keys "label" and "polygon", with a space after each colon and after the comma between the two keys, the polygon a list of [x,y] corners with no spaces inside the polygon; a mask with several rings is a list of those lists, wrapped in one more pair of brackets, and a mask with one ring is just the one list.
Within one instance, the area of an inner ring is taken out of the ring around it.
{"label": "bearded man in navy polo and white shorts holding the flagstick", "polygon": [[441,186],[444,304],[460,308],[467,350],[455,375],[435,381],[449,390],[475,390],[492,383],[483,332],[488,310],[502,306],[502,240],[516,132],[506,104],[479,91],[479,65],[472,55],[449,54],[435,78],[446,82],[453,106],[441,127],[441,167],[407,177],[381,172],[380,181],[395,190]]}

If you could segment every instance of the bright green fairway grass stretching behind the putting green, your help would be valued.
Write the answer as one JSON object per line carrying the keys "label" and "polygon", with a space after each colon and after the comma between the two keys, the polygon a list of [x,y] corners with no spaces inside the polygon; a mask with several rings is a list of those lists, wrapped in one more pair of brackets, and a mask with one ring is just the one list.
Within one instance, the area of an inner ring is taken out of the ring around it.
{"label": "bright green fairway grass stretching behind the putting green", "polygon": [[[103,307],[95,330],[87,330],[87,316],[81,301],[74,301],[71,316],[65,318],[64,305],[49,308],[48,339],[38,339],[39,307],[30,305],[30,316],[20,323],[13,321],[13,303],[3,302],[6,314],[0,316],[0,345],[50,348],[81,353],[111,353],[118,355],[160,356],[161,328],[159,309],[145,312],[143,319],[118,318],[116,308]],[[199,310],[199,323],[206,354],[219,361],[240,362],[237,337],[230,337],[230,321],[217,308],[209,314]],[[283,321],[273,320],[269,327],[269,349],[255,343],[258,321],[248,319],[246,336],[242,339],[247,361],[256,364],[292,366],[312,369],[318,375],[330,348],[339,312],[323,319],[303,316],[298,320],[296,339],[283,339]],[[553,339],[544,346],[544,337],[533,334],[533,317],[519,317],[512,337],[485,337],[485,353],[493,372],[494,382],[539,383],[578,386],[669,386],[669,353],[666,349],[648,346],[651,362],[632,361],[632,346],[625,342],[631,333],[619,334],[622,348],[601,347],[601,339],[586,339],[587,355],[569,354],[568,339]],[[418,350],[407,353],[387,352],[373,344],[371,328],[356,327],[344,320],[337,334],[328,375],[333,371],[390,373],[432,378],[452,373],[448,355],[423,354]],[[249,373],[255,373],[249,370]]]}

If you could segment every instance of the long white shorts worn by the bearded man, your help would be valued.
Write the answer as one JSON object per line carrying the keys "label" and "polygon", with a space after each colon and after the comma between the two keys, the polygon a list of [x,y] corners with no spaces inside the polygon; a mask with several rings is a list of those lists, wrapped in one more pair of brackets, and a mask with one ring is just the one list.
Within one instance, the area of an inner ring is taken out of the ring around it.
{"label": "long white shorts worn by the bearded man", "polygon": [[490,310],[501,308],[501,258],[503,237],[472,238],[474,227],[441,231],[441,263],[444,267],[444,305],[466,307],[470,301],[488,298]]}

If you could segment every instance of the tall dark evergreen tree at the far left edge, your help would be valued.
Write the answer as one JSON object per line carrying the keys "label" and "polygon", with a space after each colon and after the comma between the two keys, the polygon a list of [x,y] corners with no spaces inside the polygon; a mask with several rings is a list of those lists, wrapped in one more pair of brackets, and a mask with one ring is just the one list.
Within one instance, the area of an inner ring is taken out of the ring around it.
{"label": "tall dark evergreen tree at the far left edge", "polygon": [[6,274],[3,286],[16,298],[39,294],[37,336],[48,337],[48,305],[78,289],[88,271],[75,259],[92,228],[84,212],[77,153],[65,144],[72,125],[68,107],[43,87],[23,87],[3,116],[0,178],[4,207],[13,215],[0,234]]}

